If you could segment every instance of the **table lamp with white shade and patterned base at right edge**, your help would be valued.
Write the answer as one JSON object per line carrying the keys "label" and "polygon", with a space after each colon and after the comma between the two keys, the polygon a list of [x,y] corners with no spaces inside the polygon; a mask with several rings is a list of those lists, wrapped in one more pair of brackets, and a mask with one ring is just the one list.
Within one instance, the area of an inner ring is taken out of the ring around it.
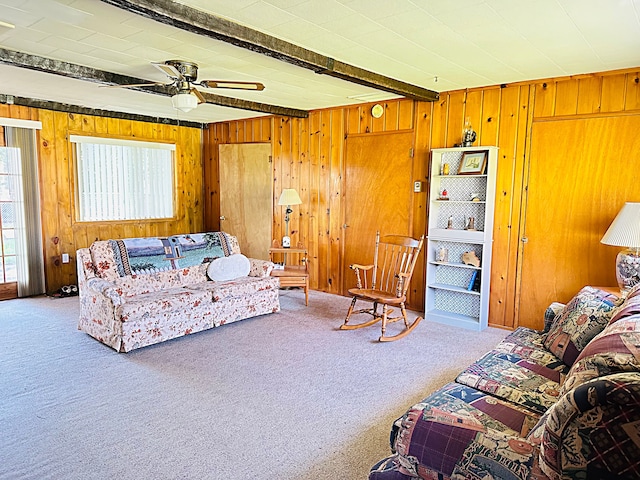
{"label": "table lamp with white shade and patterned base at right edge", "polygon": [[640,283],[640,203],[625,203],[600,242],[626,247],[616,257],[616,279],[626,295]]}

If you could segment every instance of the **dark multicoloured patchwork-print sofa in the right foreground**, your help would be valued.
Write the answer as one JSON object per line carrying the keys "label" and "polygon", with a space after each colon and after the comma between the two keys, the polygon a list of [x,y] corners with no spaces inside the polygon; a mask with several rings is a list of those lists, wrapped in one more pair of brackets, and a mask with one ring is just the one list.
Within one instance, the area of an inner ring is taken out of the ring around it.
{"label": "dark multicoloured patchwork-print sofa in the right foreground", "polygon": [[552,304],[412,406],[369,480],[640,478],[640,286]]}

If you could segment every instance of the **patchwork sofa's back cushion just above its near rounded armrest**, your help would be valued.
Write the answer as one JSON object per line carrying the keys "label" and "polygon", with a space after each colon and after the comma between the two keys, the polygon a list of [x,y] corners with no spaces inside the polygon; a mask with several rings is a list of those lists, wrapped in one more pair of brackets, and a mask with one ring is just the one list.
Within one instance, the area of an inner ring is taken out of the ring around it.
{"label": "patchwork sofa's back cushion just above its near rounded armrest", "polygon": [[640,315],[608,325],[591,340],[571,367],[560,394],[591,379],[622,372],[640,372]]}

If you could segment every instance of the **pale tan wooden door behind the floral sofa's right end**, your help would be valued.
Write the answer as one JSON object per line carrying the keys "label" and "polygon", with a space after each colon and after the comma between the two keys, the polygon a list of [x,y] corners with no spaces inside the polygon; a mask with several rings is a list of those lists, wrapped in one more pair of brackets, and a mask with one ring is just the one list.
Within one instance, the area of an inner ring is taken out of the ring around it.
{"label": "pale tan wooden door behind the floral sofa's right end", "polygon": [[269,260],[271,144],[220,145],[220,229],[238,237],[247,257]]}

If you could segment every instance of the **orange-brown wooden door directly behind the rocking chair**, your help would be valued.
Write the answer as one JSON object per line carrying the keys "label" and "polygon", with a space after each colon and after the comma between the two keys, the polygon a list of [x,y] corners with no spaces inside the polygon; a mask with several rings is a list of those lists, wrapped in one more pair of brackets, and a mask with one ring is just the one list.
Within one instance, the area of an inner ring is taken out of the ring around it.
{"label": "orange-brown wooden door directly behind the rocking chair", "polygon": [[[376,231],[411,235],[413,132],[347,137],[342,292],[355,287],[352,263],[373,263]],[[375,159],[375,160],[373,160]]]}

